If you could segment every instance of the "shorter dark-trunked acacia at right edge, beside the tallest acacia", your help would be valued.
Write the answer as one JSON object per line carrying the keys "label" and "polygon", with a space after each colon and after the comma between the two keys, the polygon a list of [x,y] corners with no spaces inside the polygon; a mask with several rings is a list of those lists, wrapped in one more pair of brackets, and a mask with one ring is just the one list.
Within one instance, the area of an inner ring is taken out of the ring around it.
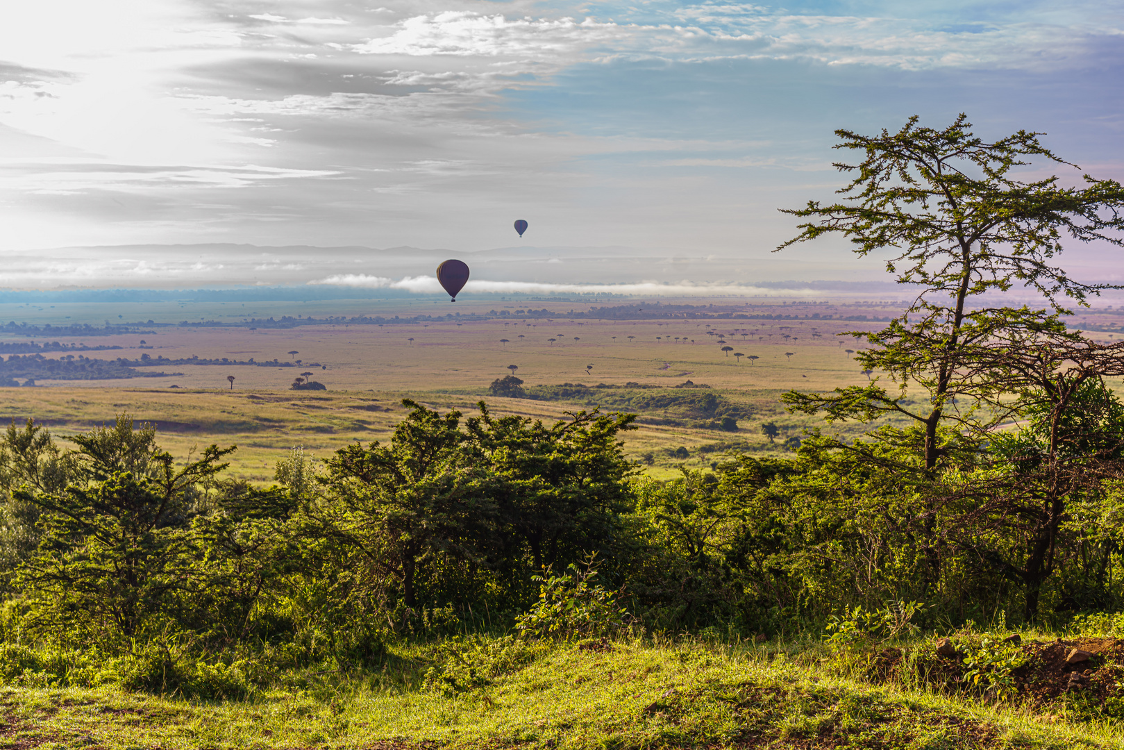
{"label": "shorter dark-trunked acacia at right edge, beside the tallest acacia", "polygon": [[[999,372],[1019,394],[1027,425],[992,436],[988,466],[961,475],[946,499],[967,523],[951,528],[985,571],[1024,589],[1024,617],[1034,621],[1046,579],[1064,554],[1064,519],[1076,501],[1096,504],[1104,481],[1124,476],[1124,404],[1105,383],[1124,374],[1124,343],[1100,345],[1064,331],[1016,332],[981,350],[964,370]],[[999,471],[995,469],[998,468]],[[966,503],[967,501],[967,503]],[[1081,557],[1107,558],[1115,544],[1084,545]]]}

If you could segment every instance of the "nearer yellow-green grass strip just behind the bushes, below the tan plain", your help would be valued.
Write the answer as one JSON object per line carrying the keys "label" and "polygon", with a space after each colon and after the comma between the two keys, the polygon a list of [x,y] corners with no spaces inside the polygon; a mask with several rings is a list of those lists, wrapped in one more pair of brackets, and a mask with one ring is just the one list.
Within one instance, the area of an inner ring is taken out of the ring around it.
{"label": "nearer yellow-green grass strip just behind the bushes, below the tan plain", "polygon": [[[652,392],[652,391],[645,391]],[[660,391],[655,391],[660,392]],[[664,392],[682,394],[681,390]],[[690,391],[688,391],[690,392]],[[697,391],[695,391],[697,392]],[[782,454],[780,442],[787,435],[799,435],[815,419],[785,414],[777,390],[716,391],[754,415],[742,419],[734,433],[689,426],[652,424],[667,416],[662,409],[638,410],[640,428],[627,433],[625,452],[633,460],[652,453],[653,466],[643,466],[658,478],[678,476],[679,467],[703,468],[720,458],[720,449],[729,443],[751,450]],[[487,389],[463,389],[461,392],[418,391],[291,391],[271,389],[190,390],[147,387],[85,388],[0,388],[0,419],[21,424],[28,417],[46,424],[56,435],[72,435],[102,423],[117,414],[128,413],[136,419],[153,422],[161,445],[176,458],[193,448],[211,443],[236,444],[232,457],[232,473],[256,482],[271,481],[273,466],[285,452],[302,445],[306,452],[324,458],[347,443],[386,440],[406,414],[405,397],[415,398],[439,409],[461,409],[474,414],[475,404],[484,399],[497,415],[519,414],[551,423],[566,418],[566,412],[589,409],[596,401],[536,401],[493,398]],[[602,410],[614,410],[611,404]],[[770,445],[760,432],[762,422],[773,421],[782,427],[776,445]],[[3,425],[0,425],[3,426]],[[858,434],[856,426],[847,430]],[[688,449],[689,458],[677,459],[672,452]],[[701,449],[701,450],[700,450]]]}

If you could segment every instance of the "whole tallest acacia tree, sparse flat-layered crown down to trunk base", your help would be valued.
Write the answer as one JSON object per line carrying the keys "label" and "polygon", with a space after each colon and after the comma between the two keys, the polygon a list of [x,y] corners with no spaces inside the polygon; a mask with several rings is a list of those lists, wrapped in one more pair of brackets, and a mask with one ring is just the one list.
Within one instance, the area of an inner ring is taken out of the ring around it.
{"label": "whole tallest acacia tree, sparse flat-layered crown down to trunk base", "polygon": [[[1032,157],[1069,164],[1042,145],[1039,133],[1019,130],[987,142],[963,115],[940,130],[913,117],[894,134],[836,135],[842,139],[837,148],[865,159],[836,164],[854,173],[839,191],[839,202],[809,201],[786,211],[809,220],[778,250],[840,234],[858,255],[889,251],[887,270],[921,291],[881,331],[843,334],[865,338],[869,347],[855,360],[868,380],[874,370],[886,373],[892,391],[870,380],[831,394],[790,391],[783,399],[790,410],[824,413],[828,422],[873,422],[890,414],[910,422],[905,428],[883,425],[870,433],[871,441],[852,445],[817,437],[809,451],[828,470],[834,451],[841,468],[861,461],[894,477],[905,493],[894,500],[899,505],[894,533],[924,560],[917,572],[922,588],[932,593],[942,585],[942,560],[958,549],[950,537],[971,527],[987,506],[978,493],[977,505],[951,503],[955,493],[943,482],[959,481],[958,472],[945,470],[986,468],[985,441],[1013,413],[1027,408],[1025,399],[1010,399],[1010,370],[999,364],[1010,342],[1040,336],[1036,341],[1049,349],[1079,340],[1059,320],[1067,311],[1063,304],[1087,305],[1090,295],[1108,286],[1075,281],[1052,262],[1063,241],[1124,245],[1124,189],[1088,175],[1084,187],[1064,187],[1058,177],[1019,180],[1015,170]],[[982,298],[1016,284],[1041,295],[1043,308],[992,306]]]}

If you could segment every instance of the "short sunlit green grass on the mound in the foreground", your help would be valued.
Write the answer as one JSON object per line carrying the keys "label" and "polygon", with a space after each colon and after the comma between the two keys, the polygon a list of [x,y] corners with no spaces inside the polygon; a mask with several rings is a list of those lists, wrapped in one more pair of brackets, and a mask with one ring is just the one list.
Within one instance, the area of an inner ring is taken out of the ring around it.
{"label": "short sunlit green grass on the mound in the foreground", "polygon": [[[471,659],[471,639],[461,645]],[[0,747],[1124,748],[1115,724],[842,678],[815,648],[506,648],[522,659],[478,665],[486,677],[462,689],[424,685],[425,670],[448,658],[434,643],[393,649],[381,671],[239,702],[7,687]]]}

